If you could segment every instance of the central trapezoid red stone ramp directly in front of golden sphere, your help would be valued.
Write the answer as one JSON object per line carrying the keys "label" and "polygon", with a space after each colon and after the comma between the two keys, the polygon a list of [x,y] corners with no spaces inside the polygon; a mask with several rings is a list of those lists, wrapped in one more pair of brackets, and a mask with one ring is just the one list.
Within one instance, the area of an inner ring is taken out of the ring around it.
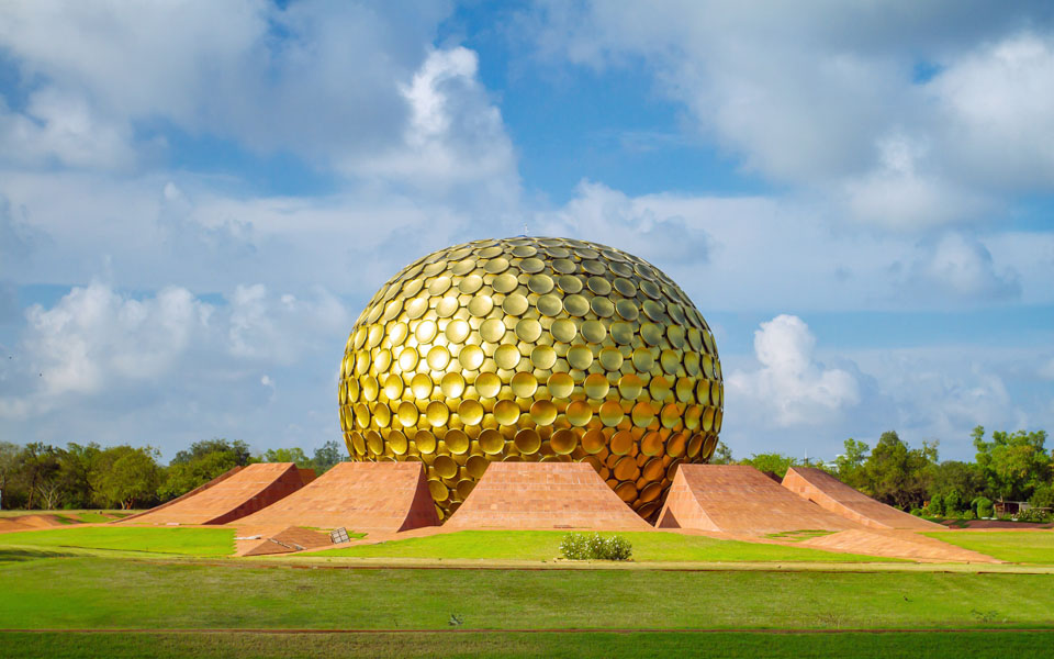
{"label": "central trapezoid red stone ramp directly in front of golden sphere", "polygon": [[491,462],[445,528],[649,530],[586,462]]}

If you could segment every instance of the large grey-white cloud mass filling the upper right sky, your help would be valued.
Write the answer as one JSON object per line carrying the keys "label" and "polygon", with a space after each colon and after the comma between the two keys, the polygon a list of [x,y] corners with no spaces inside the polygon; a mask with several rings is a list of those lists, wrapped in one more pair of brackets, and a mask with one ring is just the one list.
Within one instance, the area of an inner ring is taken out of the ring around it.
{"label": "large grey-white cloud mass filling the upper right sky", "polygon": [[[1054,185],[1054,26],[1025,5],[542,7],[526,24],[543,57],[643,62],[745,169],[848,219],[962,224],[1002,212],[1013,191]],[[920,65],[931,77],[917,77]]]}

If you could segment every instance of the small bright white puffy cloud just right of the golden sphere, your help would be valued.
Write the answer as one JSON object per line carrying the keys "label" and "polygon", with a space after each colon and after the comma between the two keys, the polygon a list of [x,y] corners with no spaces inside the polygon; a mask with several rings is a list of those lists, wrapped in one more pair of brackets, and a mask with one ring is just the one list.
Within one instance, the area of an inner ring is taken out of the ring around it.
{"label": "small bright white puffy cloud just right of the golden sphere", "polygon": [[[814,356],[816,337],[805,322],[782,314],[754,332],[761,367],[736,370],[726,379],[735,410],[761,416],[761,425],[826,425],[860,403],[860,387],[846,370],[828,368]],[[753,409],[753,410],[751,410]]]}

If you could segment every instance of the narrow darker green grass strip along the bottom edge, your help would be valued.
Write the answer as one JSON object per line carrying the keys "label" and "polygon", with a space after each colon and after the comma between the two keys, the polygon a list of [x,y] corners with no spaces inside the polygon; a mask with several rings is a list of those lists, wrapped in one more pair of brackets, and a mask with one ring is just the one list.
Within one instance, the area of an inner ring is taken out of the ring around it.
{"label": "narrow darker green grass strip along the bottom edge", "polygon": [[156,657],[1049,657],[1054,633],[957,634],[0,634],[0,656]]}

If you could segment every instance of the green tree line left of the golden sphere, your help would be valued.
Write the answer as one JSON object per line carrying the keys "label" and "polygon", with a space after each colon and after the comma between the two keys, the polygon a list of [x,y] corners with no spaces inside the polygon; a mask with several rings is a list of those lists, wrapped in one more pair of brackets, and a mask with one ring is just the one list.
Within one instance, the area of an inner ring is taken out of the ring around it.
{"label": "green tree line left of the golden sphere", "polygon": [[327,442],[309,458],[301,448],[253,455],[240,439],[218,438],[197,442],[162,465],[160,451],[149,446],[70,443],[60,448],[0,442],[0,492],[3,509],[142,509],[186,494],[234,467],[295,462],[321,476],[343,455],[336,442]]}

